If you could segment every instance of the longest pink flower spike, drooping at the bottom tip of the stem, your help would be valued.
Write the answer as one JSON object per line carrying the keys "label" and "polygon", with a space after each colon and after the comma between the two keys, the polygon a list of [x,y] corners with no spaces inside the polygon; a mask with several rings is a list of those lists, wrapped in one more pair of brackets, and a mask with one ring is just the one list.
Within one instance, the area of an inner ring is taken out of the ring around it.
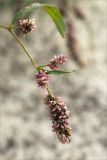
{"label": "longest pink flower spike, drooping at the bottom tip of the stem", "polygon": [[68,143],[71,136],[71,127],[69,126],[69,111],[64,102],[59,97],[47,95],[45,104],[48,105],[50,119],[52,120],[52,130],[58,135],[58,139],[62,144]]}

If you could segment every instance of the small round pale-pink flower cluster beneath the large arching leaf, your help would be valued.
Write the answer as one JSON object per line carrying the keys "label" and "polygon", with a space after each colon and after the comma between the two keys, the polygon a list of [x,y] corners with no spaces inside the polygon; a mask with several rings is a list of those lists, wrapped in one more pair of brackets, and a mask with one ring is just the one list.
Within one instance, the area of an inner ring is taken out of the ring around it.
{"label": "small round pale-pink flower cluster beneath the large arching leaf", "polygon": [[18,29],[25,35],[37,29],[37,26],[34,24],[35,19],[20,19],[18,21]]}

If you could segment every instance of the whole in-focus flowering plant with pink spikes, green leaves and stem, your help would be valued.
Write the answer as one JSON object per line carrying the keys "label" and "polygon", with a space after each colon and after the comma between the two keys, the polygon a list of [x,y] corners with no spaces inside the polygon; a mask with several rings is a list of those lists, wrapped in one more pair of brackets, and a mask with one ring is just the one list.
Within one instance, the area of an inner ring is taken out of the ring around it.
{"label": "whole in-focus flowering plant with pink spikes, green leaves and stem", "polygon": [[[42,8],[54,21],[59,33],[62,37],[65,35],[65,26],[63,18],[59,10],[48,4],[32,3],[24,9],[16,13],[11,24],[8,26],[0,25],[15,38],[18,44],[22,47],[28,58],[31,60],[34,68],[37,70],[35,73],[35,80],[39,87],[45,88],[48,95],[45,97],[44,102],[49,108],[50,119],[52,120],[52,130],[58,135],[58,139],[61,143],[65,144],[70,141],[71,127],[68,122],[69,111],[66,104],[59,98],[55,97],[48,86],[48,81],[50,79],[50,74],[67,74],[68,71],[57,70],[60,65],[66,62],[66,56],[64,54],[54,56],[46,65],[39,65],[29,54],[23,43],[20,41],[18,36],[15,34],[14,30],[17,29],[22,35],[27,35],[36,30],[35,19],[25,19],[28,13],[31,13],[37,8]],[[48,68],[48,69],[47,69]]]}

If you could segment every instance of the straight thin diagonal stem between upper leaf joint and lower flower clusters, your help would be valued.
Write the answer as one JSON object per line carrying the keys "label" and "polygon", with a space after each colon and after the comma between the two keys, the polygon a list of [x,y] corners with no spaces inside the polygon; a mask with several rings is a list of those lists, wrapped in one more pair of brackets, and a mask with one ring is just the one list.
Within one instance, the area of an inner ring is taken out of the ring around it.
{"label": "straight thin diagonal stem between upper leaf joint and lower flower clusters", "polygon": [[32,59],[32,57],[30,56],[29,52],[26,50],[26,48],[24,47],[24,45],[22,44],[22,42],[19,40],[19,38],[16,36],[16,34],[14,32],[12,32],[11,29],[8,29],[8,31],[12,34],[12,36],[16,39],[16,41],[20,44],[20,46],[23,48],[23,50],[25,51],[26,55],[29,57],[29,59],[31,60],[32,64],[34,65],[34,67],[36,67],[37,70],[40,69],[39,65]]}

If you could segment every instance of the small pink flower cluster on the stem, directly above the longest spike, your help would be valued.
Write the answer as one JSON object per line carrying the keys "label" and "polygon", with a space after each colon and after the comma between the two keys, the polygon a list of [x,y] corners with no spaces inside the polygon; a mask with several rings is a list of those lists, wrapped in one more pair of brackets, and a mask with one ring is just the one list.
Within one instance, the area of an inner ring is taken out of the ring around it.
{"label": "small pink flower cluster on the stem, directly above the longest spike", "polygon": [[40,70],[38,73],[35,74],[35,79],[36,79],[38,86],[45,87],[47,86],[49,77],[45,71]]}

